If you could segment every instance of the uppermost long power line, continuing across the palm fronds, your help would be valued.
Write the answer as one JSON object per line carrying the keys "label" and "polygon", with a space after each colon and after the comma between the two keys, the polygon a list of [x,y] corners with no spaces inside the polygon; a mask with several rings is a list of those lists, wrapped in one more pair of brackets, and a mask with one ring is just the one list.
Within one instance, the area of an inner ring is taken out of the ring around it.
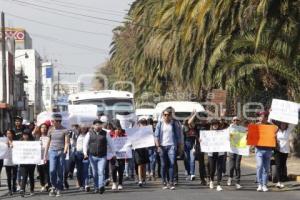
{"label": "uppermost long power line, continuing across the palm fronds", "polygon": [[[96,16],[86,15],[86,14],[82,14],[82,13],[75,13],[75,12],[72,12],[72,11],[61,10],[61,9],[58,9],[58,8],[51,8],[51,7],[48,7],[48,6],[42,6],[42,5],[39,5],[39,4],[24,2],[24,1],[20,1],[20,0],[12,0],[12,1],[16,2],[16,3],[20,3],[20,4],[25,5],[25,6],[27,4],[27,6],[43,8],[43,9],[51,10],[51,11],[55,10],[55,11],[60,12],[60,13],[68,13],[68,14],[75,15],[75,16],[81,16],[81,17],[86,17],[86,18],[91,18],[91,19],[96,19],[96,20],[102,20],[102,21],[109,21],[109,22],[114,22],[114,23],[123,23],[122,21],[118,21],[118,20],[107,19],[107,18],[104,18],[104,17],[96,17]],[[143,25],[143,24],[137,24],[137,23],[133,23],[133,22],[130,22],[130,24],[132,24],[134,26],[141,26],[141,27],[152,28],[152,29],[157,29],[157,30],[164,30],[164,31],[171,30],[169,28],[168,29],[159,28],[159,27],[153,27],[153,26],[148,26],[148,25]]]}

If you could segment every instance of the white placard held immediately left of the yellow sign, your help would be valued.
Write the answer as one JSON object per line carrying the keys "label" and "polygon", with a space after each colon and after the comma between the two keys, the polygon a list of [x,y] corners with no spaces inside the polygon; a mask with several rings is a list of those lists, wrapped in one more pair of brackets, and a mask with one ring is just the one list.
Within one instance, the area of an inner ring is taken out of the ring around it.
{"label": "white placard held immediately left of the yellow sign", "polygon": [[228,130],[200,131],[200,139],[202,152],[230,152]]}

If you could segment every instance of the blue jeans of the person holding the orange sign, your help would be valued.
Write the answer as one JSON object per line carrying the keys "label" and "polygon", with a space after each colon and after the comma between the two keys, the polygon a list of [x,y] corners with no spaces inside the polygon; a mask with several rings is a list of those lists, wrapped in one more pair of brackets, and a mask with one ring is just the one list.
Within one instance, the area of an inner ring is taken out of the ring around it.
{"label": "blue jeans of the person holding the orange sign", "polygon": [[256,180],[259,185],[268,184],[270,162],[273,151],[271,149],[255,149],[256,152]]}

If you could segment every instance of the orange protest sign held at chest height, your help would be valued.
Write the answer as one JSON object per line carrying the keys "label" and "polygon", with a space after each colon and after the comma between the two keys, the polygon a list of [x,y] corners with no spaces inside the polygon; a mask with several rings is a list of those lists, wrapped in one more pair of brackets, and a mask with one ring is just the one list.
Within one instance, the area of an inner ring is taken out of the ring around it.
{"label": "orange protest sign held at chest height", "polygon": [[276,147],[277,126],[249,124],[247,144],[262,147]]}

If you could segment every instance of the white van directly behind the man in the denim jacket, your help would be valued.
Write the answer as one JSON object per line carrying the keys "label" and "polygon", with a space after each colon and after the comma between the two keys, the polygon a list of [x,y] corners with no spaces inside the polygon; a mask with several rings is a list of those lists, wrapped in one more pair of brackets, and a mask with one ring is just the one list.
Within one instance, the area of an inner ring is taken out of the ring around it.
{"label": "white van directly behind the man in the denim jacket", "polygon": [[204,107],[198,102],[192,101],[167,101],[167,102],[160,102],[156,105],[155,108],[155,115],[157,116],[158,120],[161,119],[162,112],[168,108],[172,107],[175,110],[175,118],[180,120],[181,122],[188,119],[193,111],[198,113],[199,117],[205,117],[206,111]]}

